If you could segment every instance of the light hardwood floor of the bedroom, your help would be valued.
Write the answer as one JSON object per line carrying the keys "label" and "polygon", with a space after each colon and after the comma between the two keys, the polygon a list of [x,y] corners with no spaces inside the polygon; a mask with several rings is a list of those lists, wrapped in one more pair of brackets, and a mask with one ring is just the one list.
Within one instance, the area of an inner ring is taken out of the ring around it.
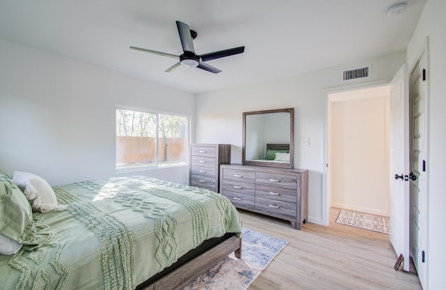
{"label": "light hardwood floor of the bedroom", "polygon": [[298,231],[289,222],[240,211],[243,227],[289,241],[248,290],[422,289],[415,270],[394,270],[388,235],[337,224],[338,213],[330,209],[328,227],[307,223]]}

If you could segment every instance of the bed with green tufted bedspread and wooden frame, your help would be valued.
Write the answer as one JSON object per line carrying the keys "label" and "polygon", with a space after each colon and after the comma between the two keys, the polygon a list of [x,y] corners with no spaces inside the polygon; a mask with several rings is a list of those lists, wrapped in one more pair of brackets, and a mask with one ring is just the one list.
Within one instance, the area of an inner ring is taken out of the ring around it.
{"label": "bed with green tufted bedspread and wooden frame", "polygon": [[[240,216],[215,192],[145,176],[52,190],[67,210],[30,213],[0,172],[1,219],[23,212],[25,224],[20,250],[0,255],[0,289],[180,289],[240,257]],[[8,214],[14,199],[22,211]],[[4,222],[0,234],[11,236]]]}

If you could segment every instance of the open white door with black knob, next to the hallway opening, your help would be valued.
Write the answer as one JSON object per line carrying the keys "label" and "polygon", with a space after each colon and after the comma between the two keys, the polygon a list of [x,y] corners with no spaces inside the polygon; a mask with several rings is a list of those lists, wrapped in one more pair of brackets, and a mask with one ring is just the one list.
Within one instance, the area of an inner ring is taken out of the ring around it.
{"label": "open white door with black knob, next to the hallway opening", "polygon": [[409,90],[405,63],[390,82],[390,242],[409,270]]}

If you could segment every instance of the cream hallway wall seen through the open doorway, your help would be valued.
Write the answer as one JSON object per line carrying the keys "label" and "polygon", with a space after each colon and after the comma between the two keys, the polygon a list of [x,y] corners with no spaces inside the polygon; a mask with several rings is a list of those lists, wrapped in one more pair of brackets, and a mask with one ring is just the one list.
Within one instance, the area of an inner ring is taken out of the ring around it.
{"label": "cream hallway wall seen through the open doorway", "polygon": [[357,98],[330,101],[331,206],[390,215],[386,88],[387,96],[357,91]]}

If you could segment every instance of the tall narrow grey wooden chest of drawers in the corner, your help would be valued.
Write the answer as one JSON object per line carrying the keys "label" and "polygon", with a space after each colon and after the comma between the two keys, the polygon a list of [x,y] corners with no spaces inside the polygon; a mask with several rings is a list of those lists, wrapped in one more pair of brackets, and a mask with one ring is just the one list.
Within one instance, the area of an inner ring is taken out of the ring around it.
{"label": "tall narrow grey wooden chest of drawers in the corner", "polygon": [[220,165],[231,163],[231,144],[192,144],[189,185],[220,190]]}

